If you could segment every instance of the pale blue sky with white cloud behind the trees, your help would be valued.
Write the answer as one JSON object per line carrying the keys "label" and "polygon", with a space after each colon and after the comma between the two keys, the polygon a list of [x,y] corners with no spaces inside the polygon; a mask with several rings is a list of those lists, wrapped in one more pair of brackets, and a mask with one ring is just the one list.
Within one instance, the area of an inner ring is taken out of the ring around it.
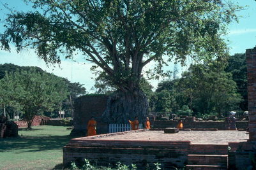
{"label": "pale blue sky with white cloud behind the trees", "polygon": [[[30,11],[31,6],[27,6],[22,0],[0,0],[1,3],[8,3],[9,8],[17,11]],[[254,0],[239,0],[233,1],[240,6],[246,6],[245,10],[237,11],[237,15],[241,16],[239,22],[232,22],[228,25],[228,32],[225,39],[228,39],[230,54],[234,53],[244,53],[247,48],[253,48],[256,46],[256,1]],[[0,19],[3,21],[6,18],[6,14],[10,13],[9,10],[0,4]],[[2,23],[1,23],[2,24]],[[0,32],[3,31],[3,25],[0,24]],[[80,82],[84,84],[84,87],[89,92],[93,92],[91,87],[94,85],[93,77],[94,75],[90,71],[91,63],[82,62],[82,56],[78,55],[74,57],[75,60],[79,62],[72,62],[71,60],[64,60],[60,67],[59,66],[48,66],[42,60],[36,57],[33,50],[22,50],[22,52],[15,52],[15,48],[12,48],[11,52],[5,52],[0,50],[0,64],[13,63],[19,66],[38,66],[48,71],[54,73],[57,76],[62,76],[68,78],[68,80],[73,82]],[[147,67],[151,67],[150,64]],[[174,65],[170,64],[169,67],[165,69],[173,70]],[[186,67],[179,67],[179,73],[184,71]],[[152,80],[151,83],[156,87],[159,80]]]}

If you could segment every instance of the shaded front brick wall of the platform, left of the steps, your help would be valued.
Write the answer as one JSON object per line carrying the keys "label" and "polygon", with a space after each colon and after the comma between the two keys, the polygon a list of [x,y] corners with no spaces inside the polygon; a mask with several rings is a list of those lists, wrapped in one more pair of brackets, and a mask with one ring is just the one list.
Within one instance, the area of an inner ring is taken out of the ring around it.
{"label": "shaded front brick wall of the platform, left of the steps", "polygon": [[[133,131],[130,131],[133,132]],[[119,135],[116,133],[115,135]],[[67,166],[71,161],[77,163],[89,159],[99,166],[122,164],[137,164],[142,169],[149,164],[162,164],[162,168],[184,167],[190,141],[129,141],[76,138],[63,148],[63,164]]]}

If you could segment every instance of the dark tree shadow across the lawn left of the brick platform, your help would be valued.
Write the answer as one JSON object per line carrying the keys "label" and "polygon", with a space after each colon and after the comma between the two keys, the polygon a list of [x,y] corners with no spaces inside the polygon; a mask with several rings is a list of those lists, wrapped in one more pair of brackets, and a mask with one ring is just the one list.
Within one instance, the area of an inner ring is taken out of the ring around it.
{"label": "dark tree shadow across the lawn left of the brick platform", "polygon": [[29,136],[0,139],[0,152],[40,152],[62,149],[75,136]]}

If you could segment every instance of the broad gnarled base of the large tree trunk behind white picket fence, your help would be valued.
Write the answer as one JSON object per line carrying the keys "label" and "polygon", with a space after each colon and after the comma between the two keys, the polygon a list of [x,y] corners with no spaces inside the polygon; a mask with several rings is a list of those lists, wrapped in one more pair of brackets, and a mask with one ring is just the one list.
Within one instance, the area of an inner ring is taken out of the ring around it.
{"label": "broad gnarled base of the large tree trunk behind white picket fence", "polygon": [[134,92],[117,90],[109,96],[102,118],[109,124],[128,124],[128,120],[138,117],[139,122],[142,123],[147,117],[148,106],[147,97],[141,90]]}

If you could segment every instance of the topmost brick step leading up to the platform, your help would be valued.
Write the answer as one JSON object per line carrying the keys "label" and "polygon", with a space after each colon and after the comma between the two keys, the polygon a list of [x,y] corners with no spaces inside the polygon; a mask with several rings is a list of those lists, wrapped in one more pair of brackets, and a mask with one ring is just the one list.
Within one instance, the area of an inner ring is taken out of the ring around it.
{"label": "topmost brick step leading up to the platform", "polygon": [[199,155],[227,155],[229,152],[229,145],[207,145],[207,144],[191,144],[190,154]]}

